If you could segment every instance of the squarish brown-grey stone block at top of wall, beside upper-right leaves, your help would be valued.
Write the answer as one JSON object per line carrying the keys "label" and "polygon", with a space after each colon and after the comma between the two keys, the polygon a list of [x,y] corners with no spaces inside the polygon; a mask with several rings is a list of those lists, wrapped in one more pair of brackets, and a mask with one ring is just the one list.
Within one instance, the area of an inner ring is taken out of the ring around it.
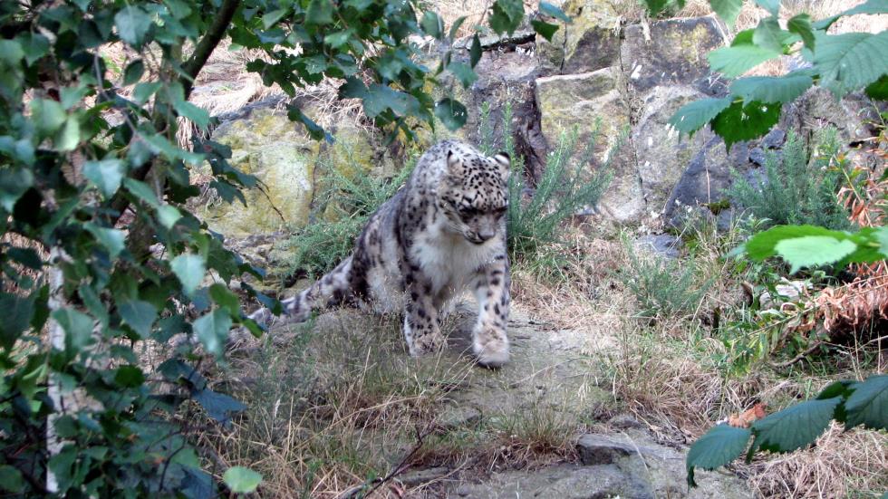
{"label": "squarish brown-grey stone block at top of wall, beside upper-right leaves", "polygon": [[706,55],[726,43],[715,17],[667,19],[626,27],[620,52],[632,91],[679,83],[712,95],[724,84],[710,78]]}

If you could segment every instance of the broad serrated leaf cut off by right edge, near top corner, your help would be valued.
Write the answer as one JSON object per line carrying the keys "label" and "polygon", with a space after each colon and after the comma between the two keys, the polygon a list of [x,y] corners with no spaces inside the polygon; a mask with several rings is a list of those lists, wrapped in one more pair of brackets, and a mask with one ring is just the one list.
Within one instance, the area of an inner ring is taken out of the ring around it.
{"label": "broad serrated leaf cut off by right edge, near top corner", "polygon": [[888,30],[879,34],[816,33],[814,65],[820,84],[836,97],[862,89],[888,73]]}

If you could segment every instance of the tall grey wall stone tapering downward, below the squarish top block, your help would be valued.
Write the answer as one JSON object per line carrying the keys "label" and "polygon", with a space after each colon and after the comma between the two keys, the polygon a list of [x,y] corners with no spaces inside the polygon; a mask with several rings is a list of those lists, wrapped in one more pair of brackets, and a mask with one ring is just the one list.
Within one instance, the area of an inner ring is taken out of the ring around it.
{"label": "tall grey wall stone tapering downward, below the squarish top block", "polygon": [[684,104],[704,98],[690,86],[658,86],[642,101],[642,114],[632,130],[632,146],[647,210],[660,215],[690,159],[707,139],[699,132],[681,137],[669,119]]}

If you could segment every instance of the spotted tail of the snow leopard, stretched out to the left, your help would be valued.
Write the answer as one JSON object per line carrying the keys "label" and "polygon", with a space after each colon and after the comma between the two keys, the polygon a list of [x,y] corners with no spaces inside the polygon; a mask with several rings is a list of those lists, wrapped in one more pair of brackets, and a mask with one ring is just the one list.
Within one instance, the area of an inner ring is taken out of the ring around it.
{"label": "spotted tail of the snow leopard, stretched out to the left", "polygon": [[[284,315],[281,319],[288,322],[302,322],[307,320],[312,312],[337,307],[351,301],[352,257],[349,256],[302,293],[281,301],[284,305]],[[267,325],[273,321],[274,315],[270,310],[262,308],[250,314],[250,319]]]}

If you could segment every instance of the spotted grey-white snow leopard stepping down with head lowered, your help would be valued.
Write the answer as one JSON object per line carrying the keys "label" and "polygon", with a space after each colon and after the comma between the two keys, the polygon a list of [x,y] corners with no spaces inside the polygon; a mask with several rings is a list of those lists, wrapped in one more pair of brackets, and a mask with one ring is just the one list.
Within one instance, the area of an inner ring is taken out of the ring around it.
{"label": "spotted grey-white snow leopard stepping down with head lowered", "polygon": [[[419,159],[406,185],[370,217],[353,253],[302,293],[282,301],[285,321],[354,304],[403,313],[410,355],[442,348],[442,317],[470,290],[478,302],[472,349],[497,368],[509,356],[506,214],[510,158],[444,140]],[[250,316],[273,320],[268,309]]]}

